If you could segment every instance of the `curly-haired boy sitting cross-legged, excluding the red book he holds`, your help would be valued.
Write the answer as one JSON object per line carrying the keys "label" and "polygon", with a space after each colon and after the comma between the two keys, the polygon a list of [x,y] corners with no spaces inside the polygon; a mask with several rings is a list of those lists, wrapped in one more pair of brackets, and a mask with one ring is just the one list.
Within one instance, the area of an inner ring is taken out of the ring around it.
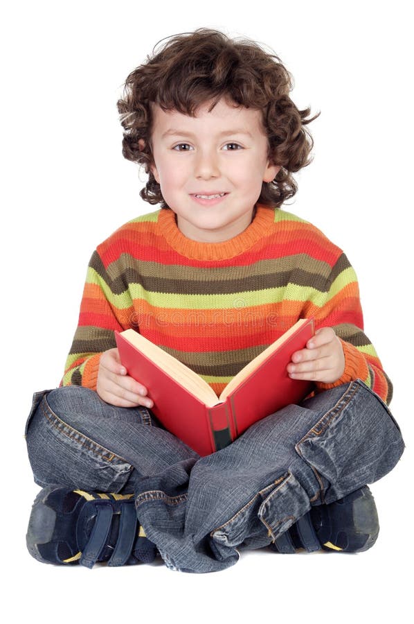
{"label": "curly-haired boy sitting cross-legged, excluding the red book he holds", "polygon": [[[127,78],[123,153],[145,165],[141,196],[161,209],[98,246],[64,387],[35,395],[26,436],[43,489],[27,543],[39,561],[159,553],[207,572],[241,547],[357,552],[377,539],[366,483],[404,443],[348,259],[280,210],[312,148],[290,88],[278,58],[207,29],[172,38]],[[159,426],[114,341],[133,327],[219,394],[308,316],[316,334],[287,371],[314,395],[204,458]]]}

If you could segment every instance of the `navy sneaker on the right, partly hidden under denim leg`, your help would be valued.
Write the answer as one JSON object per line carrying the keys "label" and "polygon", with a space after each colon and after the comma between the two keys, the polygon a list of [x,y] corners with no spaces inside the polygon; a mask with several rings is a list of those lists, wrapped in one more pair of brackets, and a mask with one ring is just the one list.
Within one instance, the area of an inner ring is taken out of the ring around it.
{"label": "navy sneaker on the right, partly hidden under denim leg", "polygon": [[336,551],[361,553],[377,541],[379,523],[367,485],[329,505],[316,505],[272,544],[278,553]]}

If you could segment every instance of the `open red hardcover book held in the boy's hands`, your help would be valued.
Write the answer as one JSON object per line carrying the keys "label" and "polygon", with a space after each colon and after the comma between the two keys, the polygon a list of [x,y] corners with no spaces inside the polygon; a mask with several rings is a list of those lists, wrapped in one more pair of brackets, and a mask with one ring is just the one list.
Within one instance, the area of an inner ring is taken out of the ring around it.
{"label": "open red hardcover book held in the boy's hands", "polygon": [[286,367],[313,335],[314,320],[299,320],[238,372],[219,397],[197,373],[134,329],[117,331],[116,344],[128,374],[147,388],[161,424],[205,456],[312,391],[312,381],[291,379]]}

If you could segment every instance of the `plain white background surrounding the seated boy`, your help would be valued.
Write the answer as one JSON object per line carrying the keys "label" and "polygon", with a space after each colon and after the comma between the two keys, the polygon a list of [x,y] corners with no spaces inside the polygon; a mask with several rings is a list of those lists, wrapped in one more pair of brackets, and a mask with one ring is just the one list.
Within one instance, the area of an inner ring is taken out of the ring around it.
{"label": "plain white background surrounding the seated boy", "polygon": [[[1,10],[1,561],[15,618],[408,621],[414,535],[408,6],[37,0]],[[287,209],[323,229],[357,270],[366,332],[395,383],[393,413],[408,448],[372,486],[381,532],[368,553],[243,553],[233,568],[208,575],[161,564],[93,571],[42,565],[24,544],[37,493],[22,435],[31,395],[60,381],[91,252],[116,227],[152,210],[138,195],[144,174],[121,154],[116,101],[129,71],[156,42],[201,26],[271,46],[294,76],[296,104],[321,111],[310,126],[314,162],[298,174],[300,190]]]}

